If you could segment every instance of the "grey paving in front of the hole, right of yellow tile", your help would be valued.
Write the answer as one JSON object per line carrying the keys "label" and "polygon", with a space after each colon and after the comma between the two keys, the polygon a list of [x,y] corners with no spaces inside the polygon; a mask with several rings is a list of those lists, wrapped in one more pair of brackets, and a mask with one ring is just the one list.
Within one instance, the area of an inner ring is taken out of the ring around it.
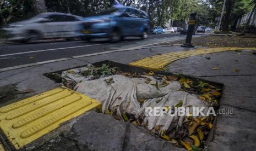
{"label": "grey paving in front of the hole, right of yellow tile", "polygon": [[59,150],[62,144],[62,150],[184,150],[132,124],[94,111],[80,117],[68,132],[34,149]]}

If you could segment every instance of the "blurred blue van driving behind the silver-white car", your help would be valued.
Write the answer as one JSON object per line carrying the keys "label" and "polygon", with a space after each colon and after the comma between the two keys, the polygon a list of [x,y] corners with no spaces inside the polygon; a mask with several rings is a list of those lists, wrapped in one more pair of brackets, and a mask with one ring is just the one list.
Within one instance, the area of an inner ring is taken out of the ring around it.
{"label": "blurred blue van driving behind the silver-white car", "polygon": [[132,7],[112,7],[83,19],[81,38],[110,38],[118,42],[127,36],[145,39],[150,31],[150,20],[144,11]]}

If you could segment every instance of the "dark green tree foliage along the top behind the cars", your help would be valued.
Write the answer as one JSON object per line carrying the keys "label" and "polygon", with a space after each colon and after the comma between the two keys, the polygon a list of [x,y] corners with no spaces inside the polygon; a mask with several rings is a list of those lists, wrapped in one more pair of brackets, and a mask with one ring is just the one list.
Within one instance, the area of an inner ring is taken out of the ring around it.
{"label": "dark green tree foliage along the top behind the cars", "polygon": [[[237,20],[252,10],[253,0],[227,0],[222,30],[234,29]],[[89,16],[111,7],[115,0],[0,0],[0,25],[31,18],[51,11]],[[189,14],[197,12],[198,26],[215,26],[223,0],[120,0],[119,3],[146,11],[151,26],[165,26],[170,19],[188,22]]]}

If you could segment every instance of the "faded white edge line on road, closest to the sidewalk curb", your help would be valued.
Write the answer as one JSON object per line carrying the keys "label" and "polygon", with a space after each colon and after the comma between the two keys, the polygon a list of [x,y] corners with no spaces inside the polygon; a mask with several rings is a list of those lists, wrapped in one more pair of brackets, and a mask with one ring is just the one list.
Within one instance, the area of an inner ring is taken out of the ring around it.
{"label": "faded white edge line on road, closest to the sidewalk curb", "polygon": [[1,69],[0,69],[0,72],[12,70],[12,69],[19,69],[19,68],[25,68],[25,67],[36,66],[36,65],[42,65],[42,64],[46,64],[46,63],[52,63],[52,62],[70,60],[70,59],[72,59],[72,58],[66,57],[66,58],[55,59],[55,60],[47,60],[47,61],[42,61],[42,62],[29,63],[29,64],[26,64],[26,65],[19,65],[19,66],[14,66],[14,67],[1,68]]}

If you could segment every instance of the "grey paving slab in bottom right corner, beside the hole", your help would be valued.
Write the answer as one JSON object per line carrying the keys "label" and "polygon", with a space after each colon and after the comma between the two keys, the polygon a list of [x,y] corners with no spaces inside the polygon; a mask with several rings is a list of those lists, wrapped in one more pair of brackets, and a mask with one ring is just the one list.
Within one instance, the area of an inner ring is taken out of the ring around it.
{"label": "grey paving slab in bottom right corner, beside the hole", "polygon": [[[228,109],[230,106],[222,105]],[[233,108],[233,114],[219,114],[215,125],[214,140],[208,150],[255,150],[256,113]]]}

